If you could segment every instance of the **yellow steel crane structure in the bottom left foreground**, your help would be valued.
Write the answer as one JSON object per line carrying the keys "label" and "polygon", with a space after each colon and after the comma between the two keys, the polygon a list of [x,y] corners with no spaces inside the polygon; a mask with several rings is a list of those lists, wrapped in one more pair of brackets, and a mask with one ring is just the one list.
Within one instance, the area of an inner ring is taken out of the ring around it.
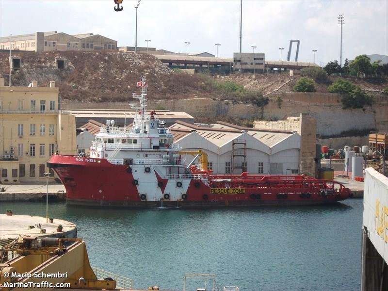
{"label": "yellow steel crane structure in the bottom left foreground", "polygon": [[[73,243],[66,247],[69,242]],[[97,279],[89,264],[85,242],[81,239],[20,237],[1,248],[0,259],[2,291],[49,291],[56,284],[63,283],[67,283],[65,288],[69,289],[116,288],[116,281],[112,278]]]}

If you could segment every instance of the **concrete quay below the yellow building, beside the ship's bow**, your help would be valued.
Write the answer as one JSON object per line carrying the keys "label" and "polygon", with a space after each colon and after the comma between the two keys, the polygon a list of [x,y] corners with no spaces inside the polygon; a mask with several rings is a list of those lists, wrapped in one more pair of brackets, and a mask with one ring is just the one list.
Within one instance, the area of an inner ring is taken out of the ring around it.
{"label": "concrete quay below the yellow building, beside the ship's bow", "polygon": [[[46,184],[0,184],[0,201],[42,201],[46,199]],[[49,199],[65,200],[66,191],[62,184],[49,184]]]}

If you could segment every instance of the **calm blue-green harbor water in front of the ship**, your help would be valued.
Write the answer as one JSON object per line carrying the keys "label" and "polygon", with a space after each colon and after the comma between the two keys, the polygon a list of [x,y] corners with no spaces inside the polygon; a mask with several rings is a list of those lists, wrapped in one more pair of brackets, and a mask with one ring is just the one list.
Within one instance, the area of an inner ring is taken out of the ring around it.
{"label": "calm blue-green harbor water in front of the ship", "polygon": [[[128,210],[50,203],[49,216],[75,223],[91,265],[132,278],[134,288],[182,290],[185,273],[210,273],[220,289],[353,291],[360,289],[362,205]],[[7,209],[46,216],[43,202],[1,202],[0,212]]]}

